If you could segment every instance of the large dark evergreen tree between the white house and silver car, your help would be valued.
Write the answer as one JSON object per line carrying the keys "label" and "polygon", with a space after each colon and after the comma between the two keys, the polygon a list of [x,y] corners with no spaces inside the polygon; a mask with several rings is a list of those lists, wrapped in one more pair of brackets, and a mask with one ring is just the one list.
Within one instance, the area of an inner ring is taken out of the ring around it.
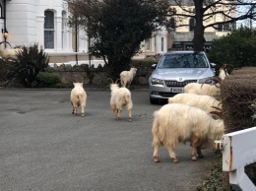
{"label": "large dark evergreen tree between the white house and silver car", "polygon": [[77,6],[73,16],[79,18],[79,24],[94,39],[91,55],[105,60],[113,79],[130,69],[131,58],[139,51],[141,42],[152,37],[152,32],[163,24],[169,7],[166,0],[74,0],[74,5]]}

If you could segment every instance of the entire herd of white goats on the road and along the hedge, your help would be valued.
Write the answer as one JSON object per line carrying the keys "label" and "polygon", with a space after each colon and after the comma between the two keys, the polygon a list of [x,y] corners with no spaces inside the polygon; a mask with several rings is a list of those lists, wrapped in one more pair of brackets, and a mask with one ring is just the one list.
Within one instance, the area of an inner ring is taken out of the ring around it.
{"label": "entire herd of white goats on the road and along the hedge", "polygon": [[[192,160],[203,158],[202,149],[214,148],[215,140],[224,135],[224,120],[222,119],[221,81],[227,75],[226,65],[220,69],[219,77],[210,77],[203,84],[190,83],[184,87],[184,93],[168,98],[164,104],[154,112],[152,127],[154,159],[160,161],[159,148],[167,148],[169,157],[178,162],[174,149],[180,143],[190,142],[192,147]],[[132,120],[132,97],[128,90],[137,69],[131,67],[130,71],[120,73],[120,79],[110,84],[110,106],[116,119],[119,119],[122,106],[128,110],[129,121]],[[216,85],[205,84],[207,81],[216,81]],[[118,82],[121,82],[120,88]],[[71,91],[72,113],[77,114],[81,106],[82,116],[85,115],[87,94],[83,83],[73,83]]]}

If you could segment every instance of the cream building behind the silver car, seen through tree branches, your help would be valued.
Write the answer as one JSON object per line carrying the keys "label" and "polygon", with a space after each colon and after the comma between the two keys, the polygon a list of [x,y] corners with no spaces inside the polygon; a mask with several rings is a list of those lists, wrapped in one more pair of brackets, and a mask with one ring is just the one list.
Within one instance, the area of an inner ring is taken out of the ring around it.
{"label": "cream building behind the silver car, seen through tree branches", "polygon": [[[188,10],[191,13],[194,12],[193,2],[191,2],[190,0],[183,0],[180,2],[183,3],[182,8]],[[179,14],[182,14],[184,12],[181,7],[175,6],[174,4],[171,7],[175,9],[176,12]],[[218,11],[224,11],[224,7],[220,7]],[[236,12],[234,11],[230,13],[228,12],[228,14],[232,17],[236,16]],[[142,43],[141,53],[137,55],[138,57],[147,57],[156,54],[162,54],[167,50],[187,50],[193,48],[192,40],[194,37],[194,19],[186,17],[174,17],[171,19],[171,28],[161,28],[159,32],[153,33],[151,38],[145,40]],[[204,22],[204,26],[224,21],[225,18],[220,14],[206,20]],[[181,24],[183,27],[176,28],[177,23]],[[227,32],[230,32],[233,28],[235,28],[233,24],[220,25],[217,27],[217,29],[207,28],[204,33],[204,37],[206,39],[204,47],[205,51],[211,48],[211,43],[215,38],[219,38],[227,34]]]}

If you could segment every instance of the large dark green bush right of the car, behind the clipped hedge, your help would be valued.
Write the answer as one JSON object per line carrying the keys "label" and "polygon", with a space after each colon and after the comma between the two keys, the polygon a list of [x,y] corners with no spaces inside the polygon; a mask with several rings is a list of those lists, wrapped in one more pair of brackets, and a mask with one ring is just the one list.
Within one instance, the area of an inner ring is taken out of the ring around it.
{"label": "large dark green bush right of the car, behind the clipped hedge", "polygon": [[215,39],[209,58],[218,68],[224,63],[233,68],[256,66],[256,31],[240,28]]}

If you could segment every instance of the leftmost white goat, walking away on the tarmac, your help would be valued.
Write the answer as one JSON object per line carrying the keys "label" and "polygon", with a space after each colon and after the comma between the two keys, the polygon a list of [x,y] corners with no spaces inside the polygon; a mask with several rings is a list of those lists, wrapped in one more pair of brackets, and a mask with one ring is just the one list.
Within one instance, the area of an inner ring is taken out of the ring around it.
{"label": "leftmost white goat, walking away on the tarmac", "polygon": [[78,114],[78,107],[81,106],[81,116],[85,116],[85,107],[87,104],[87,93],[83,88],[83,83],[73,83],[74,89],[70,94],[70,102],[72,105],[72,114]]}

